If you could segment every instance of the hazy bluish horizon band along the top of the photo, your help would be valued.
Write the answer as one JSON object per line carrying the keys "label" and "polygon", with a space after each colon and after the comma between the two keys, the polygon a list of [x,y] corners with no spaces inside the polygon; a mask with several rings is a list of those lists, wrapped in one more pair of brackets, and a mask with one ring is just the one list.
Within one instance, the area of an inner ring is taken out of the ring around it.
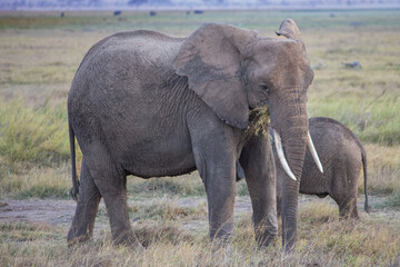
{"label": "hazy bluish horizon band along the top of the photo", "polygon": [[2,0],[0,10],[384,9],[400,0]]}

